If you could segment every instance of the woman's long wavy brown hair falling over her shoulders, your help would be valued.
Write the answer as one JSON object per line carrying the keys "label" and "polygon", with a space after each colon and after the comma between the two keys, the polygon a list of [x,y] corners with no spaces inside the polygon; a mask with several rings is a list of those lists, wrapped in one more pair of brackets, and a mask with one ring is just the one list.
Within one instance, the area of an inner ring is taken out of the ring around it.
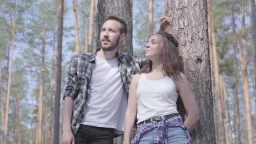
{"label": "woman's long wavy brown hair falling over her shoulders", "polygon": [[[173,35],[159,31],[155,33],[159,38],[159,43],[163,43],[163,75],[179,80],[181,73],[184,73],[182,57],[179,56],[179,44]],[[139,73],[149,73],[152,70],[152,61],[147,59]]]}

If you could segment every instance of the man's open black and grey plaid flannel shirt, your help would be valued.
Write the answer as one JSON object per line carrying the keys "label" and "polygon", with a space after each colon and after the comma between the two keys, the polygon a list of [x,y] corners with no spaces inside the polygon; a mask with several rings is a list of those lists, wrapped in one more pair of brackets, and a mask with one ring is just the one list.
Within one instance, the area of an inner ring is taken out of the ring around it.
{"label": "man's open black and grey plaid flannel shirt", "polygon": [[[96,66],[95,53],[100,49],[101,48],[96,48],[96,51],[93,53],[78,54],[70,61],[67,87],[65,88],[63,100],[66,96],[70,96],[74,99],[71,123],[74,135],[85,115],[88,96],[91,94],[89,89],[91,73],[93,68]],[[118,69],[128,93],[131,79],[133,75],[139,72],[145,58],[140,56],[131,56],[126,53],[117,53],[117,59]],[[115,136],[118,136],[117,133],[115,134]]]}

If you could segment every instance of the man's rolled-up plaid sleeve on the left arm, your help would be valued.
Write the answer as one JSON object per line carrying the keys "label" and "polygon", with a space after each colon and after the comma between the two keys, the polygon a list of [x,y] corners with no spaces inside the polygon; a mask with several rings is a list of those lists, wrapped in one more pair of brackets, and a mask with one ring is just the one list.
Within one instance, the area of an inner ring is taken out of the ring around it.
{"label": "man's rolled-up plaid sleeve on the left arm", "polygon": [[67,79],[67,87],[65,88],[65,93],[63,96],[63,100],[66,96],[70,96],[73,99],[76,99],[79,93],[79,85],[77,78],[77,58],[73,57],[69,64],[68,70],[68,79]]}

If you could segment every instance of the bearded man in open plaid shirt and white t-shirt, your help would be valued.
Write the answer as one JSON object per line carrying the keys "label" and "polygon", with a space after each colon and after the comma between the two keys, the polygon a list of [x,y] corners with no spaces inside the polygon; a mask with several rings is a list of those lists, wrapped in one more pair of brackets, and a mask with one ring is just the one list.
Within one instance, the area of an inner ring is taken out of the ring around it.
{"label": "bearded man in open plaid shirt and white t-shirt", "polygon": [[[160,29],[168,18],[160,19]],[[64,93],[62,144],[112,144],[123,131],[129,85],[145,58],[118,54],[127,27],[109,16],[101,28],[101,48],[74,56]]]}

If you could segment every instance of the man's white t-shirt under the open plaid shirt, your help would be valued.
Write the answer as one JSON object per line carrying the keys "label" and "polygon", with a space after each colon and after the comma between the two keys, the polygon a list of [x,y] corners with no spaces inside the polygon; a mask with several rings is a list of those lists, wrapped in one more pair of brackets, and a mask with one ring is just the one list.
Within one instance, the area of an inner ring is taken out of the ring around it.
{"label": "man's white t-shirt under the open plaid shirt", "polygon": [[96,56],[89,91],[91,94],[82,124],[123,131],[128,94],[117,58],[106,61]]}

